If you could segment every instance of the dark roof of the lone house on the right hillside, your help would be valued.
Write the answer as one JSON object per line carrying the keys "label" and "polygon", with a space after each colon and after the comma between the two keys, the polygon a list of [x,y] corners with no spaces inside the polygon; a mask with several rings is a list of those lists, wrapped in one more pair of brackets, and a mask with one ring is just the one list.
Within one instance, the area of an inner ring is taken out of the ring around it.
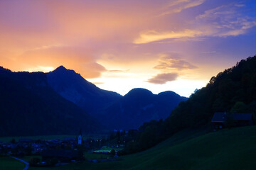
{"label": "dark roof of the lone house on the right hillside", "polygon": [[[214,113],[211,122],[224,123],[228,113]],[[252,113],[231,113],[233,120],[252,120]]]}

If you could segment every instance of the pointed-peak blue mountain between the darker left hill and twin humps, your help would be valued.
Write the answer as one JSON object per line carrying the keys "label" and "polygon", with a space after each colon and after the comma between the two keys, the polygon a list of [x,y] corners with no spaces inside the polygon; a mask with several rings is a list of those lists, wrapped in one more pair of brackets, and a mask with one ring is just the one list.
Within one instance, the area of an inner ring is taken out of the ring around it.
{"label": "pointed-peak blue mountain between the darker left hill and twin humps", "polygon": [[122,97],[115,92],[98,88],[80,74],[65,69],[63,66],[47,73],[47,80],[50,87],[60,96],[80,106],[95,118],[98,118],[105,108]]}

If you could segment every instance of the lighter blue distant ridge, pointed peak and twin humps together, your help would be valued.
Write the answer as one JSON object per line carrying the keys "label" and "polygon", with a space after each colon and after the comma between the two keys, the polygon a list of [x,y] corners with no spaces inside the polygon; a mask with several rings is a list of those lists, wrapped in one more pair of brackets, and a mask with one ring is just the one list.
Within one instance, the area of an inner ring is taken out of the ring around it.
{"label": "lighter blue distant ridge, pointed peak and twin humps together", "polygon": [[58,67],[47,73],[48,84],[60,96],[100,120],[108,128],[138,128],[145,121],[167,118],[186,98],[173,91],[152,94],[146,89],[132,89],[125,96],[98,88],[74,70]]}

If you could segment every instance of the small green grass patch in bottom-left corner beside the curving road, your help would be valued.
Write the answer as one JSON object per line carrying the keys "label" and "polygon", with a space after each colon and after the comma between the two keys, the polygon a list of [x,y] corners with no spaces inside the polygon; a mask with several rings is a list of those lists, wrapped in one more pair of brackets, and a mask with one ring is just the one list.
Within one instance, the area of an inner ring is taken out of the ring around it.
{"label": "small green grass patch in bottom-left corner beside the curving road", "polygon": [[1,170],[16,170],[25,168],[25,164],[11,157],[0,157]]}

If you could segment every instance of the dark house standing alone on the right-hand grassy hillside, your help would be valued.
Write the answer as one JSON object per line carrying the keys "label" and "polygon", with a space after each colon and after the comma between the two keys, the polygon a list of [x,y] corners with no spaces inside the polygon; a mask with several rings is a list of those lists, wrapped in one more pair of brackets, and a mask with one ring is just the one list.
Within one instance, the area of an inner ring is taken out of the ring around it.
{"label": "dark house standing alone on the right-hand grassy hillside", "polygon": [[214,113],[211,123],[213,129],[218,130],[228,121],[232,121],[234,126],[253,125],[252,113]]}

